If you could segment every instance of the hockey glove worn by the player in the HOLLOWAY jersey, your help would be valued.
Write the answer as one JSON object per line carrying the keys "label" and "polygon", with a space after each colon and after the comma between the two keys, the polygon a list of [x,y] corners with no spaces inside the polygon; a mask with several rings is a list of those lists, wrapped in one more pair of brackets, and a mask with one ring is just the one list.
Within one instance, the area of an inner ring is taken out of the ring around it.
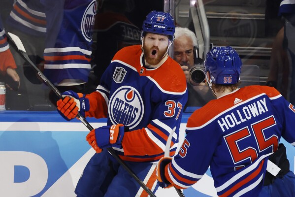
{"label": "hockey glove worn by the player in the HOLLOWAY jersey", "polygon": [[171,157],[163,157],[159,160],[157,165],[157,179],[159,186],[162,188],[172,187],[172,184],[165,177],[166,168],[168,167],[168,164],[171,163],[171,161]]}

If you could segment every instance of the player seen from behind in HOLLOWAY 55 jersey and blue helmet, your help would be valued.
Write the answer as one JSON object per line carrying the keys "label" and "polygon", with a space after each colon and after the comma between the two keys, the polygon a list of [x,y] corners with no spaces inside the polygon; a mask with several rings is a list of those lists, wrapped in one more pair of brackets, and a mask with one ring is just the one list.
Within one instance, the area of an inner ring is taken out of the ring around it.
{"label": "player seen from behind in HOLLOWAY 55 jersey and blue helmet", "polygon": [[186,189],[210,166],[219,197],[293,197],[281,137],[295,145],[295,106],[268,86],[238,88],[241,59],[231,47],[214,47],[205,60],[217,99],[189,118],[179,153],[157,166],[162,187]]}

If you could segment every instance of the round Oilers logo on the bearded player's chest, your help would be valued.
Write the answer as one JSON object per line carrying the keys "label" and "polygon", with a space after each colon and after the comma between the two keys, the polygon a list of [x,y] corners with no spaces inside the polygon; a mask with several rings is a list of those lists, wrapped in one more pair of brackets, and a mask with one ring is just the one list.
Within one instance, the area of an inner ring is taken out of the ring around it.
{"label": "round Oilers logo on the bearded player's chest", "polygon": [[131,86],[120,87],[109,100],[108,114],[113,125],[121,123],[133,129],[140,123],[143,113],[140,94]]}

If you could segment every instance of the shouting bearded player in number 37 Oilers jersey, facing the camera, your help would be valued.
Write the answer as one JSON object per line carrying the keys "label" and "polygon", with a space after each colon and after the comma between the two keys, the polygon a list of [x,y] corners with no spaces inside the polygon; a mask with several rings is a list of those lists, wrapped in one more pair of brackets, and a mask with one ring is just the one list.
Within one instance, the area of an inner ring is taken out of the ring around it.
{"label": "shouting bearded player in number 37 Oilers jersey, facing the camera", "polygon": [[142,44],[116,53],[95,92],[82,95],[67,91],[57,102],[67,119],[76,117],[77,111],[85,117],[107,117],[107,126],[86,137],[98,154],[89,161],[76,186],[78,197],[148,196],[108,153],[109,147],[156,192],[156,162],[164,156],[174,127],[167,145],[169,155],[175,154],[188,97],[185,75],[167,54],[174,31],[169,13],[150,12],[142,25]]}

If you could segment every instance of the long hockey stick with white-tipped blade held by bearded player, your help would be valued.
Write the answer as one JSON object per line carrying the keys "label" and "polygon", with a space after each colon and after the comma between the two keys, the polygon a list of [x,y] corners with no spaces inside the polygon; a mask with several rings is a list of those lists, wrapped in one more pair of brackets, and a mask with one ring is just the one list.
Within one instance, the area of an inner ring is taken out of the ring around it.
{"label": "long hockey stick with white-tipped blade held by bearded player", "polygon": [[[26,53],[25,47],[20,40],[20,38],[13,34],[7,33],[6,37],[8,38],[7,41],[12,47],[20,54],[22,58],[24,58],[31,66],[33,66],[34,70],[37,74],[42,78],[43,82],[53,91],[55,94],[60,98],[63,99],[62,94],[60,91],[44,76],[44,74],[34,65],[34,63],[30,60],[28,54]],[[77,114],[77,118],[89,129],[89,131],[93,130],[93,127],[87,122],[87,120],[81,116],[79,113]],[[151,196],[156,197],[153,192],[141,181],[138,176],[125,164],[123,160],[114,152],[112,148],[107,148],[108,152],[119,162],[127,171],[128,173],[137,181],[137,183]]]}

